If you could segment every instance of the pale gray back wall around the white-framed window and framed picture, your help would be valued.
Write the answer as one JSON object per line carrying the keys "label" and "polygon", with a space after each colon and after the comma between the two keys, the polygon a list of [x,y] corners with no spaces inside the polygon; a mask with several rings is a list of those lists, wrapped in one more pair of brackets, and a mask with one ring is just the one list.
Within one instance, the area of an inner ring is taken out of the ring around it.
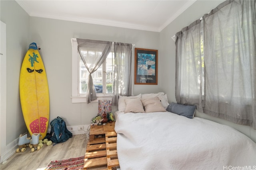
{"label": "pale gray back wall around the white-framed window and framed picture", "polygon": [[[98,113],[98,103],[72,104],[71,38],[95,39],[135,44],[146,49],[159,48],[159,33],[72,21],[30,18],[30,41],[40,45],[50,93],[50,120],[57,116],[67,126],[90,124]],[[159,92],[160,85],[134,85],[134,94]],[[113,111],[116,107],[113,106]]]}

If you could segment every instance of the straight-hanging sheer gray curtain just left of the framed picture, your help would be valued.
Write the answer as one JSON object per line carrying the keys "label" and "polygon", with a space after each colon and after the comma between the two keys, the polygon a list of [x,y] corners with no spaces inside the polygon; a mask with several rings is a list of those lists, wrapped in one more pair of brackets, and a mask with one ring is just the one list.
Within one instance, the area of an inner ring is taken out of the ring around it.
{"label": "straight-hanging sheer gray curtain just left of the framed picture", "polygon": [[115,68],[112,105],[117,106],[118,97],[132,95],[132,44],[114,43]]}

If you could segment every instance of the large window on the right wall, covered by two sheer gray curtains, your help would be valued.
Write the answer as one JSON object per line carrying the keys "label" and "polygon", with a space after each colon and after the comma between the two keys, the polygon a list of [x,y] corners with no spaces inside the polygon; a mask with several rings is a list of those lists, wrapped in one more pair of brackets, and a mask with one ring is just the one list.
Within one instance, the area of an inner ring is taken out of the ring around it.
{"label": "large window on the right wall, covered by two sheer gray curtains", "polygon": [[256,128],[255,3],[225,1],[176,33],[178,103]]}

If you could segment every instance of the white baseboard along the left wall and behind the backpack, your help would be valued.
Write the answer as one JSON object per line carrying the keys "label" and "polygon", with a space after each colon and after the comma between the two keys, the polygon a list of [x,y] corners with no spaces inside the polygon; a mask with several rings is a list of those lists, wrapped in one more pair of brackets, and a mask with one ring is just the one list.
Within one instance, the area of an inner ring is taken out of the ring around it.
{"label": "white baseboard along the left wall and behind the backpack", "polygon": [[[78,130],[78,127],[83,127],[83,130]],[[67,129],[73,135],[80,135],[80,134],[89,133],[90,125],[68,126]],[[47,132],[50,133],[50,131],[51,131],[51,129],[48,128]],[[16,153],[16,149],[18,148],[18,142],[19,142],[19,138],[15,139],[14,141],[12,141],[11,143],[9,143],[6,146],[6,152],[1,154],[1,159],[0,159],[1,162],[0,163],[6,161],[8,158],[10,158],[13,154]]]}

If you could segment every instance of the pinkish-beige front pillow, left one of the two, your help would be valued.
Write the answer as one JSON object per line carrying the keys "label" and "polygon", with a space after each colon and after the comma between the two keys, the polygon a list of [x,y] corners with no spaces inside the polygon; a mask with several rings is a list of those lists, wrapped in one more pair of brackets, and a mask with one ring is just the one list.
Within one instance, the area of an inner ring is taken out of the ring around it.
{"label": "pinkish-beige front pillow, left one of the two", "polygon": [[133,113],[145,113],[143,104],[140,99],[125,99],[126,108],[124,113],[133,112]]}

